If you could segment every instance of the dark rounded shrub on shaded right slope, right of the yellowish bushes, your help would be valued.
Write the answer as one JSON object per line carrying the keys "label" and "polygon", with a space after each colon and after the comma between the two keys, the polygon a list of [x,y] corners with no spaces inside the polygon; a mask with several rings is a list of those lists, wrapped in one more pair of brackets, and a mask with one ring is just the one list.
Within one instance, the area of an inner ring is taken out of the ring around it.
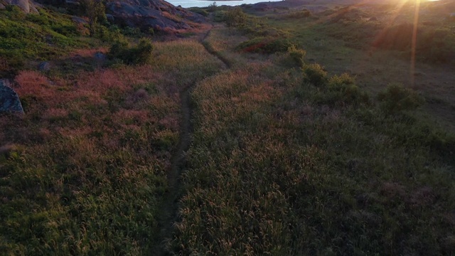
{"label": "dark rounded shrub on shaded right slope, right of the yellowish bushes", "polygon": [[424,98],[416,91],[405,88],[401,84],[390,84],[387,89],[380,92],[378,100],[387,112],[399,112],[401,110],[414,110],[424,104]]}

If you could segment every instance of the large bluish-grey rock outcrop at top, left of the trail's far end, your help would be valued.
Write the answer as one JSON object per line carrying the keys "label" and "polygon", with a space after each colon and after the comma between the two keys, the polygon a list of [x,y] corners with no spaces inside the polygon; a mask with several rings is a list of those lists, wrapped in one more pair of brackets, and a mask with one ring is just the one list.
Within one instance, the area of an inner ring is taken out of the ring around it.
{"label": "large bluish-grey rock outcrop at top, left of the trail's far end", "polygon": [[109,1],[106,7],[107,13],[112,15],[115,23],[139,27],[142,30],[149,28],[155,31],[163,31],[166,28],[181,30],[205,21],[204,16],[163,0]]}

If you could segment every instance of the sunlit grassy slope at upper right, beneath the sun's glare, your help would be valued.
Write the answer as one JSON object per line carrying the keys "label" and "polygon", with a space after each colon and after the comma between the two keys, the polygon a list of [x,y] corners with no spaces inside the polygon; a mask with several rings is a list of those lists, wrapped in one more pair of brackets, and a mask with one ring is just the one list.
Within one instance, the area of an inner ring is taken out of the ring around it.
{"label": "sunlit grassy slope at upper right, beneath the sun's glare", "polygon": [[[306,6],[309,10],[316,6]],[[417,63],[410,72],[410,45],[414,7],[397,4],[332,8],[309,17],[289,18],[289,12],[269,12],[267,23],[288,31],[307,50],[309,62],[321,63],[332,73],[349,73],[358,84],[377,95],[390,82],[421,91],[424,112],[433,122],[455,131],[453,55],[455,31],[448,21],[450,7],[437,2],[421,6],[417,33]],[[297,12],[299,14],[299,12]],[[370,20],[370,18],[374,18]],[[436,117],[436,118],[435,118]]]}

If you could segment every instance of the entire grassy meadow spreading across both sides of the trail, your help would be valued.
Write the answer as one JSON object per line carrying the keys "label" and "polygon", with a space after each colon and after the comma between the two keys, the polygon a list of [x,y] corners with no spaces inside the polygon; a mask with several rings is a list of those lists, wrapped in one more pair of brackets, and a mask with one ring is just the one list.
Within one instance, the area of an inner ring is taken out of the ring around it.
{"label": "entire grassy meadow spreading across both sides of the trail", "polygon": [[[339,38],[329,7],[211,6],[206,34],[149,45],[100,27],[113,48],[68,34],[16,66],[0,48],[26,112],[0,115],[0,252],[452,255],[454,119],[434,107],[451,107],[451,77],[424,63],[443,82],[411,87],[405,55]],[[60,26],[28,19],[0,21],[36,26],[27,46]]]}

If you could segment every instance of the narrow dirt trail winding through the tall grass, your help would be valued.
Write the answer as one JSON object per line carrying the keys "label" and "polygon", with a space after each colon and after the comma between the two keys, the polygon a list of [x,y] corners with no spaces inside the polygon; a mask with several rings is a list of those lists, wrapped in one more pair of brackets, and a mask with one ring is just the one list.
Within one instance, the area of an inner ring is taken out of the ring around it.
{"label": "narrow dirt trail winding through the tall grass", "polygon": [[[212,28],[210,28],[202,38],[200,38],[199,43],[204,46],[208,53],[223,62],[225,68],[230,68],[232,66],[230,61],[224,58],[223,55],[220,55],[220,53],[216,52],[215,49],[213,49],[212,46],[205,41],[205,39],[210,35]],[[185,152],[190,147],[191,132],[193,131],[193,124],[191,123],[191,117],[193,115],[193,108],[191,107],[191,92],[196,87],[198,82],[200,81],[195,81],[191,85],[186,85],[186,87],[184,87],[180,92],[182,115],[180,123],[180,141],[178,142],[176,151],[171,157],[171,169],[167,174],[169,190],[164,196],[161,204],[160,215],[158,217],[160,228],[159,238],[161,238],[161,242],[152,248],[152,255],[170,255],[166,246],[172,240],[171,236],[173,234],[173,223],[176,223],[178,220],[178,199],[180,198],[181,193],[180,176],[186,166]]]}

